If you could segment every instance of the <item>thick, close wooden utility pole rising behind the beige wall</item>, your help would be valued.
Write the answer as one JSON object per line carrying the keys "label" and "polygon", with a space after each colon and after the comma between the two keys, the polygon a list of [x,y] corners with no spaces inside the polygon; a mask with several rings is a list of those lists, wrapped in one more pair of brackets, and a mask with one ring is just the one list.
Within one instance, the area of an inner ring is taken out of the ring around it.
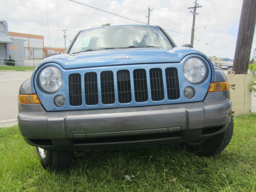
{"label": "thick, close wooden utility pole rising behind the beige wall", "polygon": [[255,24],[256,0],[243,0],[233,64],[235,74],[248,72]]}

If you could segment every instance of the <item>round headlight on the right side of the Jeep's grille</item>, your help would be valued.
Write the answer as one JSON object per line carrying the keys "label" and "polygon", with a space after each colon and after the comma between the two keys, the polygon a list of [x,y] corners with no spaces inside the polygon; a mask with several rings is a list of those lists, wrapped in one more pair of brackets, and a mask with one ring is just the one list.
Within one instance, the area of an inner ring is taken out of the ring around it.
{"label": "round headlight on the right side of the Jeep's grille", "polygon": [[189,58],[183,66],[183,73],[189,82],[199,83],[206,76],[206,65],[198,58]]}

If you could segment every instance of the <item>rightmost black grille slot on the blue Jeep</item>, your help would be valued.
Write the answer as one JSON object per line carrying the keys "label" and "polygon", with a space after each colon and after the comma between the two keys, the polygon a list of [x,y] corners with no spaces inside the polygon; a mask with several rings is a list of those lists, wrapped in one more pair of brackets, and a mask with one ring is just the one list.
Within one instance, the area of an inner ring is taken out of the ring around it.
{"label": "rightmost black grille slot on the blue Jeep", "polygon": [[165,75],[168,99],[173,100],[180,98],[180,87],[177,69],[166,68]]}

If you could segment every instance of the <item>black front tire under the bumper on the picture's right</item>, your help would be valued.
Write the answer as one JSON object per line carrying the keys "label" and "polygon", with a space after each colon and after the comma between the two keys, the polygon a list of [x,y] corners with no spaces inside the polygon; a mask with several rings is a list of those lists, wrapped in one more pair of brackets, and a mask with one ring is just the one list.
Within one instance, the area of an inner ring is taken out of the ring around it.
{"label": "black front tire under the bumper on the picture's right", "polygon": [[224,148],[226,148],[226,146],[229,144],[232,138],[233,130],[233,117],[231,117],[228,127],[223,133],[202,142],[186,143],[185,148],[198,156],[214,156],[222,152],[222,150],[224,150]]}

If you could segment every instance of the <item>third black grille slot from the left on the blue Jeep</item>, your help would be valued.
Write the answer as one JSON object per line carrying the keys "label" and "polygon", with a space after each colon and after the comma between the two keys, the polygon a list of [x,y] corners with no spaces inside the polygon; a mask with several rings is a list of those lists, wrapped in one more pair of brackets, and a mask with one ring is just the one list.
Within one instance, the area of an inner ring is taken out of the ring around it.
{"label": "third black grille slot from the left on the blue Jeep", "polygon": [[100,73],[101,97],[103,104],[113,104],[115,102],[114,75],[112,71]]}

